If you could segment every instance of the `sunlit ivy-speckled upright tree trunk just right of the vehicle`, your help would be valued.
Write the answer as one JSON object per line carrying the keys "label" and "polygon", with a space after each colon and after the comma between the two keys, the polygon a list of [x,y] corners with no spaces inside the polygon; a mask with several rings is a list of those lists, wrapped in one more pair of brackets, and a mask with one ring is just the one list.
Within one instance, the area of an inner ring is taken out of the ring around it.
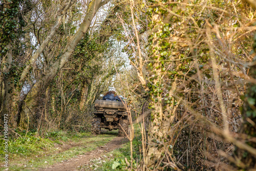
{"label": "sunlit ivy-speckled upright tree trunk just right of the vehicle", "polygon": [[[168,142],[170,142],[170,126],[174,116],[171,116],[172,110],[169,104],[164,104],[162,101],[162,92],[165,89],[163,86],[162,63],[163,56],[161,55],[161,34],[162,18],[156,12],[152,14],[152,40],[150,41],[149,60],[152,61],[152,68],[148,68],[151,75],[150,82],[147,83],[149,94],[151,97],[150,107],[152,110],[151,129],[148,130],[148,151],[145,158],[145,165],[149,169],[161,169],[158,165],[164,157],[164,153],[168,151]],[[173,98],[172,90],[169,92],[169,101]],[[163,106],[166,108],[163,111]],[[167,155],[165,155],[166,157]]]}

